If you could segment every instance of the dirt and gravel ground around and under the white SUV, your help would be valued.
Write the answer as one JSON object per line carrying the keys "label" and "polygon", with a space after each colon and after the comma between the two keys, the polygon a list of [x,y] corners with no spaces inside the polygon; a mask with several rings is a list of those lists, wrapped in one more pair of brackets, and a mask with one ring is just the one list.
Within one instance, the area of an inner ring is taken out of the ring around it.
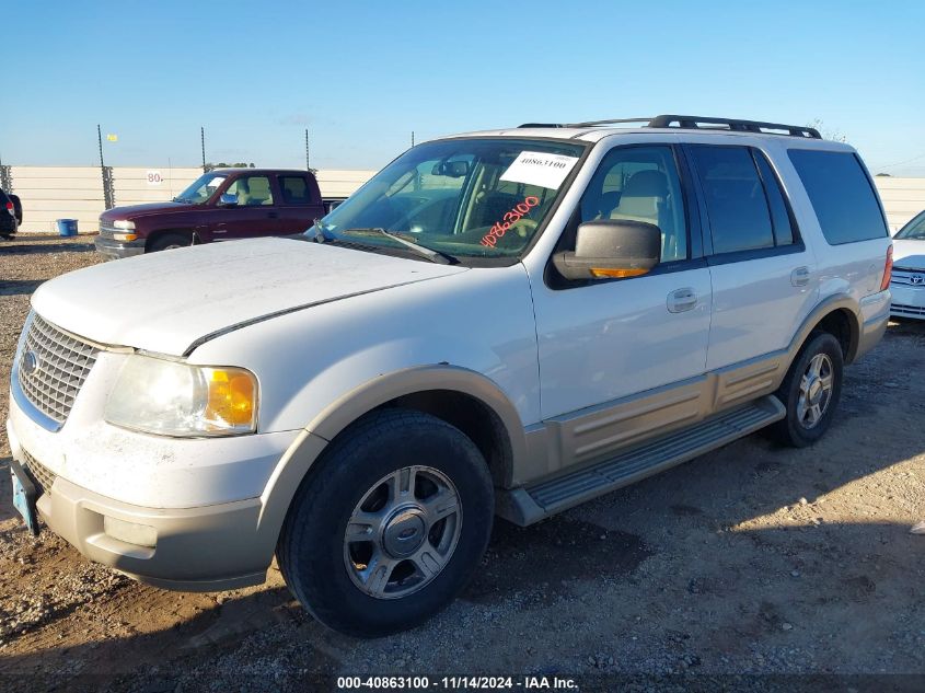
{"label": "dirt and gravel ground around and under the white SUV", "polygon": [[[31,292],[95,262],[85,236],[0,244],[3,420]],[[891,324],[847,369],[839,415],[816,447],[752,436],[535,527],[498,521],[460,599],[377,640],[322,627],[276,569],[259,588],[184,594],[92,565],[47,531],[28,536],[12,508],[4,432],[0,689],[36,690],[36,674],[60,690],[105,681],[153,692],[277,690],[313,674],[505,672],[576,674],[586,688],[667,677],[646,680],[680,681],[677,690],[773,680],[750,674],[844,674],[831,690],[886,690],[851,674],[925,674],[925,535],[910,532],[925,520],[923,423],[925,323]],[[787,690],[798,680],[781,679]]]}

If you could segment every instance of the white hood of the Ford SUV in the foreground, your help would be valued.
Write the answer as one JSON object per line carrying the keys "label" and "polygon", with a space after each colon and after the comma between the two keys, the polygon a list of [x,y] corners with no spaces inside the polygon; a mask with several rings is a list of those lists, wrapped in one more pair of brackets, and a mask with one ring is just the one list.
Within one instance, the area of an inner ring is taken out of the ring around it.
{"label": "white hood of the Ford SUV in the foreground", "polygon": [[286,239],[163,251],[43,284],[32,305],[88,339],[183,355],[212,333],[267,315],[465,272]]}

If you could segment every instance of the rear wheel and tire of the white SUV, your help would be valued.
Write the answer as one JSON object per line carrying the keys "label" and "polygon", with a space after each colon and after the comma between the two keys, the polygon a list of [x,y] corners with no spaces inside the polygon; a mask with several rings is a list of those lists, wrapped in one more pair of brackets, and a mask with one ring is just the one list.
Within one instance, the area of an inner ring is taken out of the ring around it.
{"label": "rear wheel and tire of the white SUV", "polygon": [[812,333],[776,392],[787,416],[771,428],[773,437],[794,448],[806,448],[822,438],[839,407],[843,373],[844,356],[839,340],[828,332]]}

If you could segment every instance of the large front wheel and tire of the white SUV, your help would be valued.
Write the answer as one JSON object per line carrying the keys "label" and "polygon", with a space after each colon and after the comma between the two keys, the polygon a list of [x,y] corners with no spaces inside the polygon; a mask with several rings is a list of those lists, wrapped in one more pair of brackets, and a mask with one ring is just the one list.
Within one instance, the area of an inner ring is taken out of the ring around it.
{"label": "large front wheel and tire of the white SUV", "polygon": [[385,409],[342,435],[302,482],[277,559],[290,591],[342,633],[377,637],[443,609],[478,567],[488,466],[458,428]]}

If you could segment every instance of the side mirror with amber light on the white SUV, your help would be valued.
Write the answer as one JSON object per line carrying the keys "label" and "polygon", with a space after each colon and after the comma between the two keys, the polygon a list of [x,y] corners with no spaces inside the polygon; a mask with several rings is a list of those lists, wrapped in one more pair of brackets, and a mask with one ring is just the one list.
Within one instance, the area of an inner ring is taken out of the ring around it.
{"label": "side mirror with amber light on the white SUV", "polygon": [[575,252],[553,256],[566,279],[638,277],[661,257],[661,230],[645,221],[602,219],[578,227]]}

